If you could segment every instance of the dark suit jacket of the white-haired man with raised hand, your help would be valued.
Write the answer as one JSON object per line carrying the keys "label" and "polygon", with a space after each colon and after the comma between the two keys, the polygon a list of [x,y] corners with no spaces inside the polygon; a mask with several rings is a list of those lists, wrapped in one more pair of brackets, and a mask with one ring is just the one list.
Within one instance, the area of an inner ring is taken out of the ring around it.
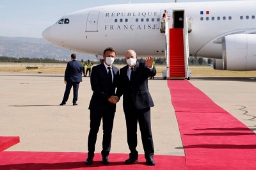
{"label": "dark suit jacket of the white-haired man with raised hand", "polygon": [[154,102],[148,91],[148,77],[156,75],[156,68],[153,67],[152,70],[150,70],[145,63],[137,62],[131,81],[129,81],[127,76],[128,69],[128,65],[120,69],[120,77],[116,91],[117,97],[120,98],[123,95],[124,111],[129,111],[132,103],[137,109],[145,109],[154,106]]}

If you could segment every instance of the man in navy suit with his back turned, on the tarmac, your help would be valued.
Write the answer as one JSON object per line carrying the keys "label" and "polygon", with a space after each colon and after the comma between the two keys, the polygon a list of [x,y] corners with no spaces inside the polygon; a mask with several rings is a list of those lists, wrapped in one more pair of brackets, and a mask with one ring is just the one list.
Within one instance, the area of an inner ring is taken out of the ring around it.
{"label": "man in navy suit with his back turned, on the tarmac", "polygon": [[77,105],[78,98],[78,88],[82,81],[82,65],[79,61],[76,61],[76,54],[71,54],[71,61],[68,62],[64,82],[66,84],[66,89],[64,93],[63,100],[60,105],[65,105],[68,101],[70,89],[73,87],[73,105]]}

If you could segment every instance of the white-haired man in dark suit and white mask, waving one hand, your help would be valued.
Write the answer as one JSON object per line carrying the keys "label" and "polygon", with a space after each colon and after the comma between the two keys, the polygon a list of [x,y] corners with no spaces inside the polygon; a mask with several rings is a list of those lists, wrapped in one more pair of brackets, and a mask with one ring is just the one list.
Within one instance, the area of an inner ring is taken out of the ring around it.
{"label": "white-haired man in dark suit and white mask, waving one hand", "polygon": [[126,164],[138,162],[137,124],[139,122],[145,159],[149,166],[154,166],[154,144],[150,123],[150,107],[154,106],[148,91],[148,77],[156,75],[152,57],[145,63],[137,62],[136,52],[127,50],[125,53],[127,65],[120,69],[120,77],[116,96],[124,97],[123,107],[127,128],[127,143],[131,153],[125,160]]}

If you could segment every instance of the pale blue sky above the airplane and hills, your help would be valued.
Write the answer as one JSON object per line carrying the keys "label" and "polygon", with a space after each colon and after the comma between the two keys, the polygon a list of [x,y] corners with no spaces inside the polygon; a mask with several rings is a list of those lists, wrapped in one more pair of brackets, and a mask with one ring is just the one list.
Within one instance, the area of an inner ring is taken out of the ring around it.
{"label": "pale blue sky above the airplane and hills", "polygon": [[[42,38],[42,31],[67,13],[93,6],[124,4],[130,1],[131,3],[175,2],[175,0],[0,0],[0,36]],[[177,2],[191,1],[177,0]]]}

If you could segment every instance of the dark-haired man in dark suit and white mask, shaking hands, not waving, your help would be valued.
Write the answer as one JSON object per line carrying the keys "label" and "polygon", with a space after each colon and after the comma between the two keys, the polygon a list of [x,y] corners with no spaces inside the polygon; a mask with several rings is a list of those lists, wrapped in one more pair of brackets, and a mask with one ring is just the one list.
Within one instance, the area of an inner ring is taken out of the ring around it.
{"label": "dark-haired man in dark suit and white mask, shaking hands, not waving", "polygon": [[103,141],[102,141],[102,163],[109,164],[109,151],[111,148],[111,135],[116,105],[113,104],[112,96],[116,92],[116,83],[119,77],[119,70],[113,66],[115,49],[109,47],[104,50],[104,62],[93,66],[90,77],[93,95],[90,101],[90,132],[88,135],[88,158],[85,164],[93,162],[95,143],[102,119]]}

